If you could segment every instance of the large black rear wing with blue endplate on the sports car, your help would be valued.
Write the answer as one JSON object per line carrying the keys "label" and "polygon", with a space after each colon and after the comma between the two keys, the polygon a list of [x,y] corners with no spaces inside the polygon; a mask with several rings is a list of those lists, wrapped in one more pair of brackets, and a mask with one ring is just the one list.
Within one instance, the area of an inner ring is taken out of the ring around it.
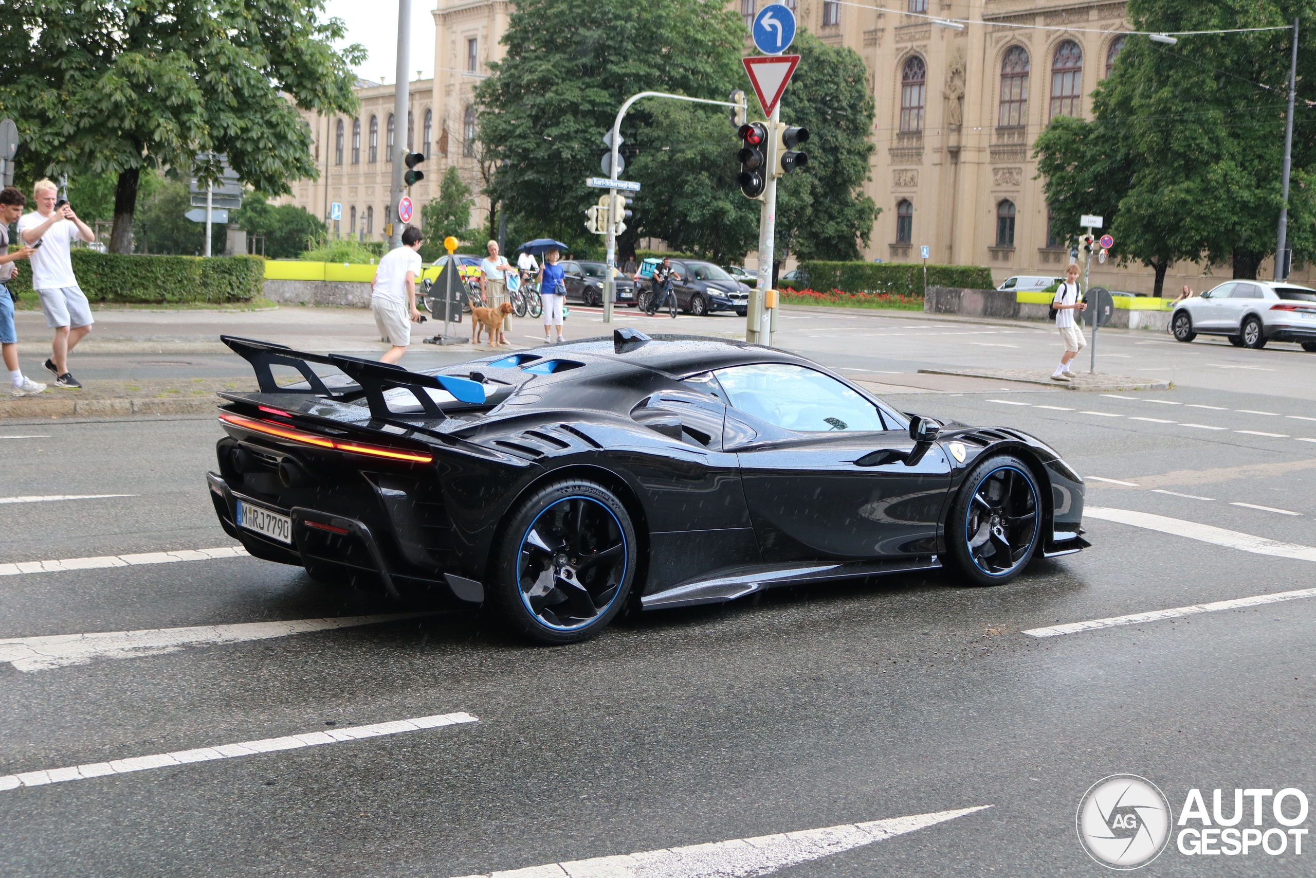
{"label": "large black rear wing with blue endplate on the sports car", "polygon": [[[280,386],[274,378],[274,366],[288,366],[297,370],[305,378],[312,394],[340,399],[359,388],[366,395],[370,404],[370,415],[382,420],[393,419],[396,412],[388,408],[384,392],[393,388],[403,388],[411,392],[420,403],[426,417],[447,417],[440,408],[428,390],[442,390],[451,394],[461,403],[472,405],[484,404],[484,386],[467,378],[453,378],[450,375],[425,375],[383,363],[378,359],[362,359],[361,357],[346,357],[343,354],[308,354],[293,350],[287,345],[275,345],[254,338],[240,338],[237,336],[220,336],[220,341],[228,345],[236,354],[251,363],[255,370],[257,383],[262,394],[305,394],[305,390]],[[315,373],[308,363],[321,363],[333,366],[343,375],[355,382],[350,388],[340,387],[338,392],[330,390],[322,378]]]}

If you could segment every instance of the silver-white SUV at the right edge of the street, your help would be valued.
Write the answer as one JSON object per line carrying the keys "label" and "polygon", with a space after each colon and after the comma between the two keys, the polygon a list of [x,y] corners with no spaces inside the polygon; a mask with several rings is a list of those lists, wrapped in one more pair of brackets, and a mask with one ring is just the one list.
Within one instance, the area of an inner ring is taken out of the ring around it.
{"label": "silver-white SUV at the right edge of the street", "polygon": [[1199,334],[1225,336],[1236,348],[1296,341],[1303,350],[1316,351],[1316,290],[1274,280],[1227,280],[1175,305],[1170,332],[1184,342]]}

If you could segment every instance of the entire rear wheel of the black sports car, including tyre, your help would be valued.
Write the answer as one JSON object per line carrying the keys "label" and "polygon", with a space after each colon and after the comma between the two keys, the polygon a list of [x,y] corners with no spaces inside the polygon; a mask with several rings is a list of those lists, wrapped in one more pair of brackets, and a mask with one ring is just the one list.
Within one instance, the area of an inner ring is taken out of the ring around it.
{"label": "entire rear wheel of the black sports car, including tyre", "polygon": [[494,596],[542,644],[595,637],[636,577],[636,532],[622,503],[594,482],[557,482],[525,500],[497,552]]}

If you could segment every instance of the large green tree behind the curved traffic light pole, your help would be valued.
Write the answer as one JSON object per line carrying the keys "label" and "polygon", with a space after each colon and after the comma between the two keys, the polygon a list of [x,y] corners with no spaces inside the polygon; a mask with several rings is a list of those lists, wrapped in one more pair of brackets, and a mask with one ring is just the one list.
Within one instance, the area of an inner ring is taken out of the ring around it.
{"label": "large green tree behind the curved traffic light pole", "polygon": [[[745,26],[722,0],[525,0],[503,43],[507,57],[476,87],[487,191],[517,228],[567,244],[588,234],[584,209],[597,192],[582,180],[599,175],[601,138],[624,100],[641,91],[725,100],[745,76]],[[658,103],[628,113],[628,146],[651,128]],[[632,238],[644,222],[637,215]]]}

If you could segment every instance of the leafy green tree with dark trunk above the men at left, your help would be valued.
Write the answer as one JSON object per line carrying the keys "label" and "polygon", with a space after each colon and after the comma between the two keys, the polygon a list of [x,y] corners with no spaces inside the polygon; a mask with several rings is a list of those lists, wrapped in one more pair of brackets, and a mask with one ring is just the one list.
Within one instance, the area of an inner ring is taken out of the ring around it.
{"label": "leafy green tree with dark trunk above the men at left", "polygon": [[[132,247],[143,167],[226,154],[254,187],[315,178],[296,108],[350,112],[359,45],[321,0],[8,0],[0,16],[0,115],[42,174],[116,175],[111,249]],[[197,176],[215,178],[215,161]]]}

